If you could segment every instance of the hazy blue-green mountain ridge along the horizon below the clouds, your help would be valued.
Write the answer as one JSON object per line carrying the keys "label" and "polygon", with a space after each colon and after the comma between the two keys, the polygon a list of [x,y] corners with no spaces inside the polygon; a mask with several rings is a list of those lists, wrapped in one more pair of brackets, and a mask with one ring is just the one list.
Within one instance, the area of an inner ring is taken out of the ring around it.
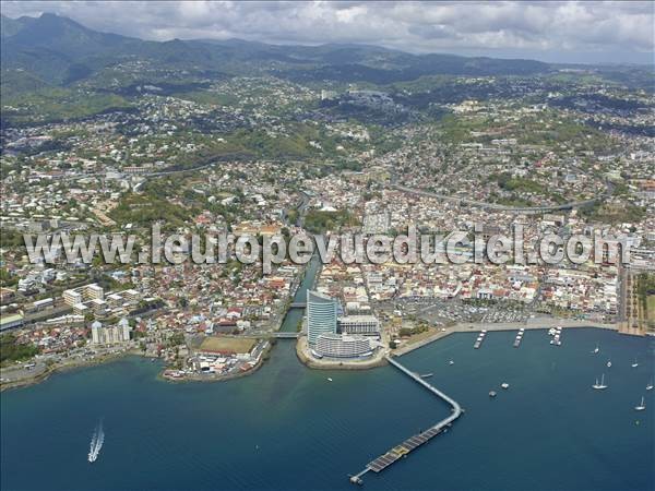
{"label": "hazy blue-green mountain ridge along the horizon below the clouds", "polygon": [[190,73],[274,74],[299,81],[390,83],[422,75],[529,75],[550,70],[533,60],[410,55],[368,45],[278,46],[242,39],[146,41],[100,33],[68,17],[2,16],[2,70],[25,70],[69,85],[126,60]]}

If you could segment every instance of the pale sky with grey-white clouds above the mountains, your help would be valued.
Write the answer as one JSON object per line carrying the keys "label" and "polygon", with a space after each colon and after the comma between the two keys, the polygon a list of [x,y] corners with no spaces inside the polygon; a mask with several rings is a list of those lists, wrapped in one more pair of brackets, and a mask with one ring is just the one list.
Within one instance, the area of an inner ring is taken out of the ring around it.
{"label": "pale sky with grey-white clouds above the mountains", "polygon": [[4,15],[53,12],[144,39],[359,43],[567,62],[653,63],[653,2],[5,1]]}

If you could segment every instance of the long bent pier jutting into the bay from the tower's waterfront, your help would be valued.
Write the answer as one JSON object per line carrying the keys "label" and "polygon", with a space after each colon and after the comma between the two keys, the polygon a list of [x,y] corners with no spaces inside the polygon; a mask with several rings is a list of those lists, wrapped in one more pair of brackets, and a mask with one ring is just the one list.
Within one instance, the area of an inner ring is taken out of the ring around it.
{"label": "long bent pier jutting into the bay from the tower's waterfront", "polygon": [[361,484],[362,483],[361,476],[364,476],[369,470],[372,470],[373,472],[380,472],[381,470],[384,470],[386,467],[392,465],[394,462],[398,460],[401,457],[406,456],[414,448],[422,445],[427,441],[437,436],[439,433],[445,431],[446,427],[450,427],[455,419],[457,419],[460,416],[462,416],[462,408],[460,407],[460,405],[457,404],[456,400],[449,397],[448,395],[445,395],[444,393],[439,391],[433,385],[430,385],[429,383],[427,383],[418,373],[414,373],[413,371],[406,369],[401,363],[398,363],[396,360],[391,358],[389,355],[385,356],[384,359],[386,361],[389,361],[390,364],[397,368],[401,372],[403,372],[406,375],[408,375],[409,378],[412,378],[415,382],[419,383],[425,388],[430,391],[437,397],[439,397],[439,398],[443,399],[445,403],[448,403],[451,406],[452,414],[448,418],[442,419],[441,421],[437,422],[434,426],[430,427],[426,431],[421,431],[420,433],[417,433],[417,434],[408,438],[400,445],[396,445],[393,448],[391,448],[390,451],[388,451],[384,455],[381,455],[378,458],[369,462],[366,465],[366,467],[364,468],[364,470],[361,470],[359,474],[356,474],[355,476],[350,476],[350,482],[353,482],[355,484]]}

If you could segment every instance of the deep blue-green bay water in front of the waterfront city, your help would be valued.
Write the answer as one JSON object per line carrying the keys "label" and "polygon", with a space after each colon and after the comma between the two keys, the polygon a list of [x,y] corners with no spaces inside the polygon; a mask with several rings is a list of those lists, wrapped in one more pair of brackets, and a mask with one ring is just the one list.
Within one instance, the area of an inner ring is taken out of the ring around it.
{"label": "deep blue-green bay water in front of the waterfront city", "polygon": [[[367,474],[365,489],[654,489],[653,340],[591,328],[564,330],[559,348],[545,331],[527,332],[517,349],[513,338],[490,333],[474,350],[475,334],[455,334],[402,357],[432,372],[430,383],[466,414],[406,459]],[[289,340],[230,382],[172,384],[159,369],[126,358],[3,393],[1,488],[354,489],[348,474],[449,412],[391,367],[308,370]],[[609,388],[593,391],[602,373]],[[646,410],[636,412],[642,395]],[[105,446],[92,465],[100,418]]]}

